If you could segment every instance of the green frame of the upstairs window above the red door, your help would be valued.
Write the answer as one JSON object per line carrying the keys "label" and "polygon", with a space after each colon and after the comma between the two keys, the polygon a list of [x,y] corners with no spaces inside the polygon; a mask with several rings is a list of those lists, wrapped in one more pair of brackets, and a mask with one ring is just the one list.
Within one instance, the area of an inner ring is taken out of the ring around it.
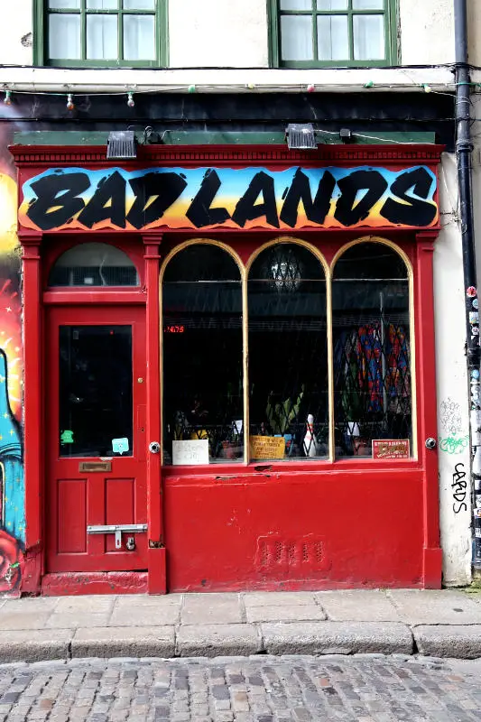
{"label": "green frame of the upstairs window above the red door", "polygon": [[[115,0],[116,7],[99,9],[92,7],[95,3],[89,0],[79,0],[78,7],[72,0],[65,0],[65,7],[51,7],[60,5],[51,0],[36,0],[33,4],[33,58],[37,66],[67,67],[67,68],[159,68],[168,64],[168,14],[167,0],[154,0],[152,9],[127,8],[125,0]],[[113,4],[112,4],[113,5]],[[130,3],[134,5],[134,3]],[[142,5],[142,3],[139,3]],[[52,58],[49,50],[49,24],[51,15],[79,16],[80,21],[80,58]],[[90,59],[88,58],[88,17],[96,15],[115,16],[117,18],[117,55],[116,58]],[[124,23],[127,16],[142,15],[153,16],[155,58],[149,60],[129,60],[124,55]]]}

